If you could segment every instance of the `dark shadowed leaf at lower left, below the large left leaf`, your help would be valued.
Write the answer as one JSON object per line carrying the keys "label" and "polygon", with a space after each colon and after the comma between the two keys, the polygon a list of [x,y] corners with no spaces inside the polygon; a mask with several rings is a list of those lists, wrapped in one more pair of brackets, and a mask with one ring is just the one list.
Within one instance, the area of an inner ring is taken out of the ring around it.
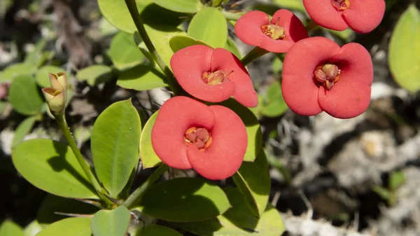
{"label": "dark shadowed leaf at lower left, below the large left leaf", "polygon": [[69,216],[56,214],[55,212],[67,214],[94,214],[98,211],[98,207],[85,202],[80,202],[72,198],[58,197],[49,194],[39,207],[36,213],[36,220],[42,226],[49,225],[55,221],[60,221]]}

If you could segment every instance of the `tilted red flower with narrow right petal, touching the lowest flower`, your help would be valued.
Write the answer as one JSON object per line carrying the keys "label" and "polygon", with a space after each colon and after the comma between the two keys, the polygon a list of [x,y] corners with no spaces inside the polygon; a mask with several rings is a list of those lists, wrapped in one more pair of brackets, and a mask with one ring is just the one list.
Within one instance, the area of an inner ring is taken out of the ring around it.
{"label": "tilted red flower with narrow right petal, touching the lowest flower", "polygon": [[228,50],[189,46],[174,53],[171,67],[179,85],[198,99],[223,102],[233,96],[244,106],[258,104],[248,72]]}

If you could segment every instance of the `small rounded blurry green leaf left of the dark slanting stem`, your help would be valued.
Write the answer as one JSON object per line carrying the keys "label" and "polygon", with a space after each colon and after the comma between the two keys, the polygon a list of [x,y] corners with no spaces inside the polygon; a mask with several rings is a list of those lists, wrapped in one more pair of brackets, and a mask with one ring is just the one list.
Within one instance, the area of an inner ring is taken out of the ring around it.
{"label": "small rounded blurry green leaf left of the dark slanting stem", "polygon": [[125,32],[119,32],[113,37],[106,53],[120,71],[137,66],[144,61],[144,55],[134,42],[134,36]]}

